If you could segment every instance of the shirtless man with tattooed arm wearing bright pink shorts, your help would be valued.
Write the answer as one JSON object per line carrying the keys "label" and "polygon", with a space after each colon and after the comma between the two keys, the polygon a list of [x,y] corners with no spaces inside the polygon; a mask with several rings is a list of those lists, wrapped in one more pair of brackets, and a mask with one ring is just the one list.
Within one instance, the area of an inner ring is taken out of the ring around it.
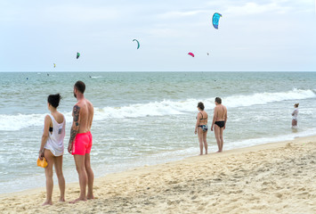
{"label": "shirtless man with tattooed arm wearing bright pink shorts", "polygon": [[[77,98],[72,111],[72,127],[68,152],[74,156],[79,177],[80,195],[74,202],[93,199],[93,169],[90,166],[90,151],[93,136],[90,129],[93,123],[93,104],[85,99],[85,83],[77,81],[74,86],[74,96]],[[86,185],[88,193],[85,194]]]}

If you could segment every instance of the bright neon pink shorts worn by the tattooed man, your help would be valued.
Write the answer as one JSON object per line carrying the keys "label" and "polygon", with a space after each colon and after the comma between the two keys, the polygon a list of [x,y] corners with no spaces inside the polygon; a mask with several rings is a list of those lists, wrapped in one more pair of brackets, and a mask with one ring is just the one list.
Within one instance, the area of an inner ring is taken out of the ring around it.
{"label": "bright neon pink shorts worn by the tattooed man", "polygon": [[72,152],[71,154],[85,155],[86,153],[91,152],[91,147],[93,146],[93,136],[91,132],[79,133],[75,137],[74,142],[72,143]]}

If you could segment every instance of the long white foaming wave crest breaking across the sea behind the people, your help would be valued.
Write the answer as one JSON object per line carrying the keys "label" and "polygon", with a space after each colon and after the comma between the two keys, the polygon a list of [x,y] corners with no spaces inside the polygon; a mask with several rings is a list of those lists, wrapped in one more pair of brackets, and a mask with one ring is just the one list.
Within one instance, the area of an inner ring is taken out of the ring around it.
{"label": "long white foaming wave crest breaking across the sea behind the people", "polygon": [[[316,97],[312,90],[293,89],[288,92],[279,93],[256,93],[253,95],[232,95],[223,97],[223,104],[228,108],[240,106],[251,106],[285,100],[302,100]],[[214,108],[214,97],[205,100],[187,99],[185,101],[169,101],[153,103],[137,103],[123,107],[95,108],[94,120],[121,119],[121,118],[142,118],[149,116],[166,116],[187,114],[196,111],[199,101],[202,101],[207,110]],[[43,126],[46,114],[0,114],[0,130],[15,131],[31,126]],[[65,113],[68,123],[72,121],[71,111]]]}

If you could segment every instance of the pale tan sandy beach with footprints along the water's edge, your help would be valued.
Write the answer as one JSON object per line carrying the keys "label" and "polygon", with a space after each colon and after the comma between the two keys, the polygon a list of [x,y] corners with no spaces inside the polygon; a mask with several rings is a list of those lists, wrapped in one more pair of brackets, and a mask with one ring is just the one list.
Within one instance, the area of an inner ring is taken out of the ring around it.
{"label": "pale tan sandy beach with footprints along the water's edge", "polygon": [[58,202],[57,184],[53,206],[44,188],[2,194],[0,213],[316,213],[315,162],[316,136],[302,137],[111,174],[88,202]]}

